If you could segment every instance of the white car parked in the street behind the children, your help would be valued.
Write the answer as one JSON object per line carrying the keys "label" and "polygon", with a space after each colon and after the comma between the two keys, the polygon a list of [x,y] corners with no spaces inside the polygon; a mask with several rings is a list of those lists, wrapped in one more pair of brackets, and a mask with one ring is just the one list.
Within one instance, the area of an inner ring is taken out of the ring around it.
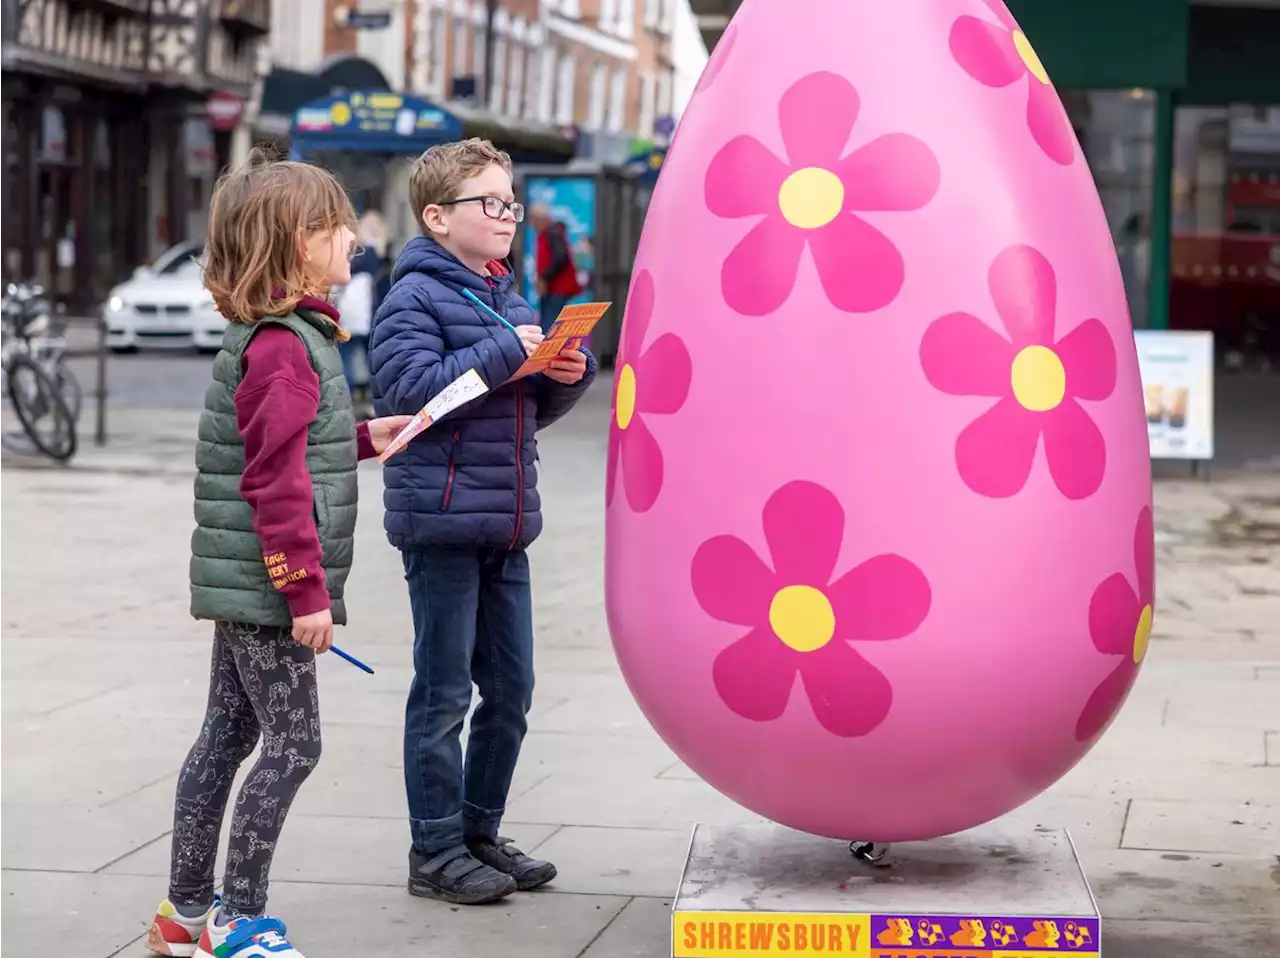
{"label": "white car parked in the street behind the children", "polygon": [[178,243],[111,289],[102,315],[113,351],[195,347],[215,352],[221,346],[227,320],[200,282],[202,252],[197,242]]}

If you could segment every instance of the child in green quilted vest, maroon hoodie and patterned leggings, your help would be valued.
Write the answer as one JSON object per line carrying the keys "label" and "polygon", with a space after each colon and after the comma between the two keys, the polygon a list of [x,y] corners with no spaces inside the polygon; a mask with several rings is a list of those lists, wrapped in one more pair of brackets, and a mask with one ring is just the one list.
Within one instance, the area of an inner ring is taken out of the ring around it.
{"label": "child in green quilted vest, maroon hoodie and patterned leggings", "polygon": [[[265,917],[271,856],[320,759],[316,653],[346,622],[356,462],[408,418],[356,424],[329,289],[351,278],[355,213],[317,166],[255,152],[211,199],[205,286],[229,325],[196,448],[191,612],[212,620],[204,725],[178,776],[169,897],[147,946],[197,958],[301,958]],[[214,862],[241,763],[223,897]]]}

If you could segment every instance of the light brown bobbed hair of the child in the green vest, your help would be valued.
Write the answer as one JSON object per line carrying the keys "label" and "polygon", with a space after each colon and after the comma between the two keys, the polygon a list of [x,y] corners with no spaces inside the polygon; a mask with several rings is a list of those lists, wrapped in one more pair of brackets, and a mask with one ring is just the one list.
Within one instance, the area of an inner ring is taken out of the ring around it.
{"label": "light brown bobbed hair of the child in the green vest", "polygon": [[255,150],[219,177],[210,201],[204,277],[218,311],[256,323],[324,292],[308,282],[301,247],[342,227],[356,232],[356,211],[332,173]]}

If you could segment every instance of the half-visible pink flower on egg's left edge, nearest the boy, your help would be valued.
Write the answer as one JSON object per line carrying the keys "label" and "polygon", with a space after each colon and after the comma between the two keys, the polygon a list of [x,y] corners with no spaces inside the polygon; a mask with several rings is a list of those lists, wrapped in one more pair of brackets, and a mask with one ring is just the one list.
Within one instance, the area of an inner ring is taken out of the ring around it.
{"label": "half-visible pink flower on egg's left edge, nearest the boy", "polygon": [[627,503],[636,512],[646,512],[658,501],[663,478],[662,448],[645,418],[678,412],[692,380],[689,350],[675,333],[664,333],[644,348],[654,301],[653,274],[641,269],[622,321],[604,484],[604,499],[609,505],[621,465]]}

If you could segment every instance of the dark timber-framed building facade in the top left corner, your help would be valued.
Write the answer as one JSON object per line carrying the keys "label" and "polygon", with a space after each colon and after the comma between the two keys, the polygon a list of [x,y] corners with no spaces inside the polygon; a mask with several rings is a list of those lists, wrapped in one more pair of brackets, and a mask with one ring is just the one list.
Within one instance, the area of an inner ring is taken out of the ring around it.
{"label": "dark timber-framed building facade in the top left corner", "polygon": [[73,310],[202,232],[271,0],[0,0],[0,270]]}

